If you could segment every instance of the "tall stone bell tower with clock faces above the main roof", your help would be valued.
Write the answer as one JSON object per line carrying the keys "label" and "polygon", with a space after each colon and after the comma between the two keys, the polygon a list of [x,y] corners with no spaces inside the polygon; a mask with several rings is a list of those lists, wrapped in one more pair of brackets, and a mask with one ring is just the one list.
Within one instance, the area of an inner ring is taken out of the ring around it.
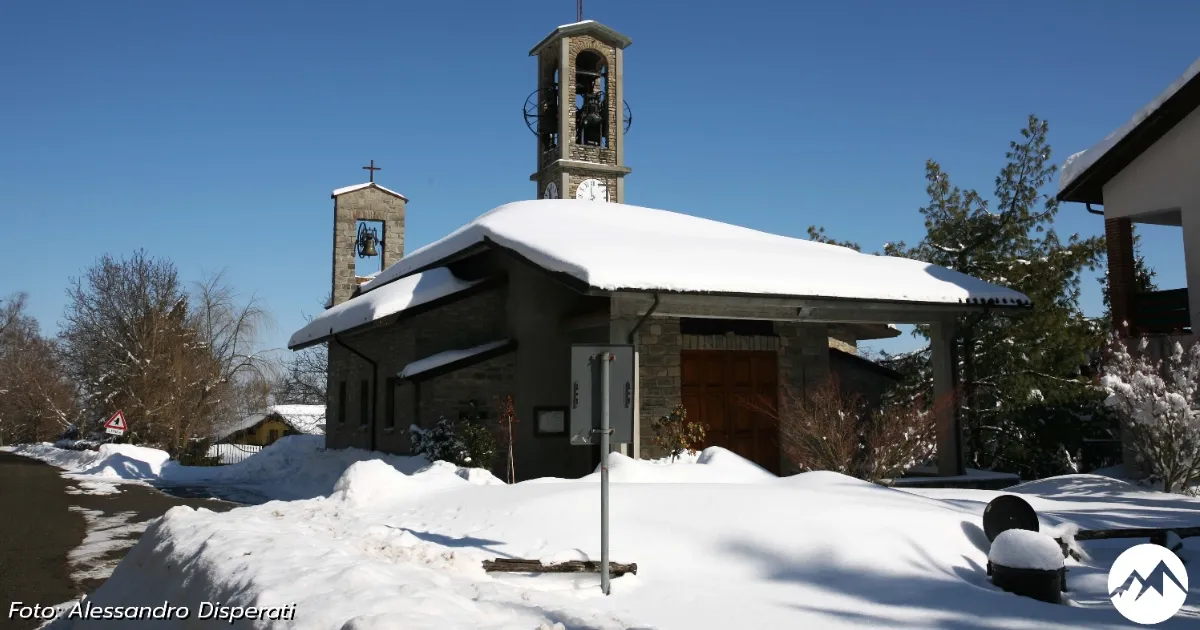
{"label": "tall stone bell tower with clock faces above the main roof", "polygon": [[538,89],[526,101],[538,137],[536,198],[624,203],[624,50],[632,41],[595,20],[554,29],[529,56],[538,58]]}

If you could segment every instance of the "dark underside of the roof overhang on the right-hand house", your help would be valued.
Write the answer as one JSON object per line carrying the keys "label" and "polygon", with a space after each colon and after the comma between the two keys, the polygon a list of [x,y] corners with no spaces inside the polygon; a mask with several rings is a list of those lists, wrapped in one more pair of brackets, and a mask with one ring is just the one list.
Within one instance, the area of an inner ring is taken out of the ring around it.
{"label": "dark underside of the roof overhang on the right-hand house", "polygon": [[[1200,107],[1200,74],[1163,101],[1056,196],[1060,202],[1104,203],[1104,185]],[[1094,149],[1093,149],[1094,150]]]}

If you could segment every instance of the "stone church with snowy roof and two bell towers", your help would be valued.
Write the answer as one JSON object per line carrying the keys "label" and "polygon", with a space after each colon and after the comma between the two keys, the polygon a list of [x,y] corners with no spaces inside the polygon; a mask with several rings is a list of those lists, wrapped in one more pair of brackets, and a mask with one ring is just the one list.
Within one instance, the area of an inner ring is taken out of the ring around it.
{"label": "stone church with snowy roof and two bell towers", "polygon": [[[586,475],[599,452],[568,437],[570,348],[629,343],[628,455],[658,456],[649,424],[682,403],[710,445],[786,474],[779,427],[748,396],[778,404],[832,374],[877,396],[895,374],[858,356],[858,342],[919,323],[932,334],[935,394],[952,397],[955,318],[1028,308],[1018,292],[935,265],[626,204],[630,43],[584,20],[530,50],[530,200],[406,254],[403,194],[373,175],[334,191],[332,300],[288,342],[328,344],[329,448],[409,452],[410,425],[472,407],[494,421],[512,396],[517,478]],[[355,254],[382,257],[382,271],[356,275]],[[937,469],[962,474],[955,406],[936,409]]]}

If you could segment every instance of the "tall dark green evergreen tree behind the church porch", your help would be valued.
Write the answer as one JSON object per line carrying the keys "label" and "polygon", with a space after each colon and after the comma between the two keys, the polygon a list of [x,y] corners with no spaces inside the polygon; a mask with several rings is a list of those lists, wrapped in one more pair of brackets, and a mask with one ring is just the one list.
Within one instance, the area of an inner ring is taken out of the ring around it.
{"label": "tall dark green evergreen tree behind the church porch", "polygon": [[[1042,192],[1056,175],[1048,125],[1030,116],[1010,143],[991,200],[950,184],[925,164],[925,236],[884,246],[901,256],[1012,287],[1033,301],[1030,312],[982,312],[955,330],[967,466],[1044,476],[1074,468],[1080,440],[1103,424],[1099,394],[1085,367],[1105,328],[1084,316],[1080,280],[1104,253],[1102,236],[1061,238],[1057,200]],[[923,326],[917,334],[928,336]],[[908,377],[898,394],[931,389],[928,348],[889,361]]]}

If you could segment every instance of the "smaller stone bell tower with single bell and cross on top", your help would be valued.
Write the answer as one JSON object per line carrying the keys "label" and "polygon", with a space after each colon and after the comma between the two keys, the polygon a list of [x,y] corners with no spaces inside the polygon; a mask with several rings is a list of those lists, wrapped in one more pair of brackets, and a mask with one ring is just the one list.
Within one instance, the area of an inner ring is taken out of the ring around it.
{"label": "smaller stone bell tower with single bell and cross on top", "polygon": [[[337,188],[334,198],[334,278],[329,306],[354,296],[374,271],[404,256],[404,205],[408,198],[371,181]],[[362,263],[360,265],[359,263]],[[371,268],[370,271],[366,268]]]}

